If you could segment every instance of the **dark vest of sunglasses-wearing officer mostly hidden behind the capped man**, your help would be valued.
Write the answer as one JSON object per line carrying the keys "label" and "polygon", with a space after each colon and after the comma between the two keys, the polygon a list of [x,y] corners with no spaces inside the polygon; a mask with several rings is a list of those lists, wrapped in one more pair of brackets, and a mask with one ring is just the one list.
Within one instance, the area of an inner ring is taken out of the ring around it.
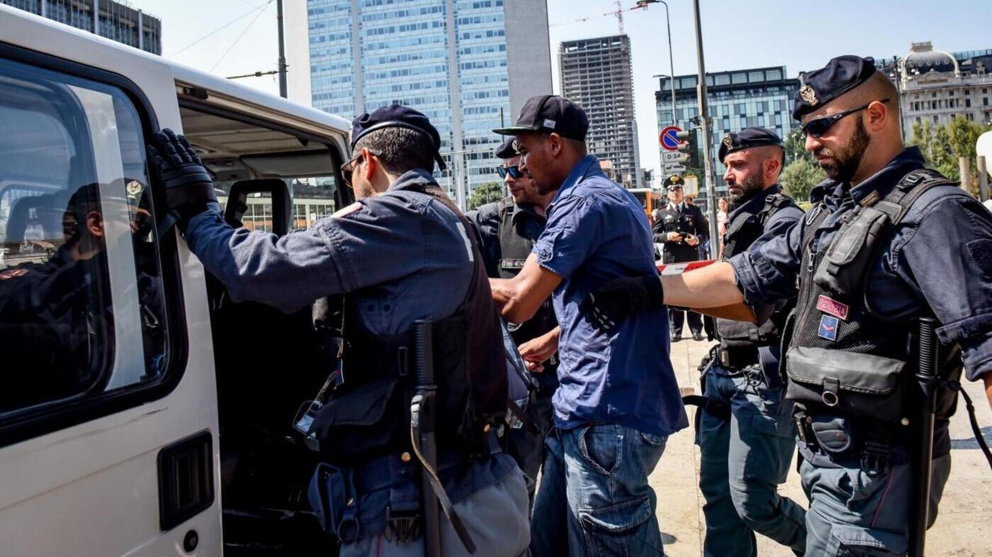
{"label": "dark vest of sunglasses-wearing officer mostly hidden behind the capped man", "polygon": [[[514,202],[512,197],[500,200],[497,210],[500,219],[499,276],[500,278],[514,278],[520,274],[520,270],[524,268],[524,263],[531,255],[531,250],[534,249],[534,240],[525,238],[517,230],[513,222]],[[509,329],[513,340],[519,345],[539,337],[557,326],[558,319],[555,317],[555,308],[552,307],[552,300],[549,297],[541,304],[534,317],[519,325],[510,324]],[[549,371],[554,372],[554,367]]]}

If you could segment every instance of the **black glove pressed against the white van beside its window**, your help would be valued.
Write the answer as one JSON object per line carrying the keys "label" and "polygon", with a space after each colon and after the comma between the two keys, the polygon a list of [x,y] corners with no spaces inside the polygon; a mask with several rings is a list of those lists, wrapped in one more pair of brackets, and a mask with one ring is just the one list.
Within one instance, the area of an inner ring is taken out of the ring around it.
{"label": "black glove pressed against the white van beside its window", "polygon": [[157,145],[148,146],[148,158],[166,186],[166,204],[188,220],[216,203],[213,180],[186,137],[166,128],[155,134]]}

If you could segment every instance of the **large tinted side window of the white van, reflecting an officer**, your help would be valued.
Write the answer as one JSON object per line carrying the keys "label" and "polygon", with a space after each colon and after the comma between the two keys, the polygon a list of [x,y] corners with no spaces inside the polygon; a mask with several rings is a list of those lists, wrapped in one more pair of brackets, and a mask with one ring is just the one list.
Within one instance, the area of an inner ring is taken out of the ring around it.
{"label": "large tinted side window of the white van, reflecting an officer", "polygon": [[162,378],[151,197],[122,90],[0,59],[0,417]]}

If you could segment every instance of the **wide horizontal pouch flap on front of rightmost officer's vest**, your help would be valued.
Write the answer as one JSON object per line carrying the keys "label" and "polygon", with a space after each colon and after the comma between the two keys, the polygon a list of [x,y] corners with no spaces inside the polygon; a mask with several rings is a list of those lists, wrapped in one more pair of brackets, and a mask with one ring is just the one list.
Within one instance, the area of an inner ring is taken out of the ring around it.
{"label": "wide horizontal pouch flap on front of rightmost officer's vest", "polygon": [[895,390],[905,366],[892,358],[805,346],[791,348],[786,358],[790,381],[870,394]]}

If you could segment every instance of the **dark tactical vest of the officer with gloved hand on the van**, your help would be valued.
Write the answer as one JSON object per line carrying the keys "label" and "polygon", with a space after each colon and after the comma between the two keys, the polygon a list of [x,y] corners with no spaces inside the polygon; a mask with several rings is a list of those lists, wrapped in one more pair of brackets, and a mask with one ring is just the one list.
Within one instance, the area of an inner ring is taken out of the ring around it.
{"label": "dark tactical vest of the officer with gloved hand on the van", "polygon": [[[421,192],[461,212],[434,184]],[[452,315],[434,321],[434,377],[438,447],[460,449],[466,459],[488,456],[485,433],[507,413],[506,359],[499,316],[474,237],[474,271]],[[443,287],[443,285],[439,285]],[[346,296],[342,383],[313,420],[321,456],[349,466],[410,449],[410,402],[416,388],[413,324],[393,336],[375,335],[358,318],[356,296]]]}

